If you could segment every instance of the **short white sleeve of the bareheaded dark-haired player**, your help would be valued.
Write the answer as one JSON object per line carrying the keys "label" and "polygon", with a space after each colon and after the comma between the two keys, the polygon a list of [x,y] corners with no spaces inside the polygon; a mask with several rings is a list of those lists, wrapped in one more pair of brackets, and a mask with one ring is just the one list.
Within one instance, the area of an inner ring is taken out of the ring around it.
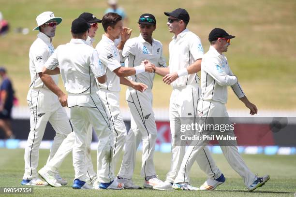
{"label": "short white sleeve of the bareheaded dark-haired player", "polygon": [[98,45],[96,50],[99,54],[100,61],[111,71],[121,67],[120,62],[114,57],[114,52],[109,47],[100,50]]}

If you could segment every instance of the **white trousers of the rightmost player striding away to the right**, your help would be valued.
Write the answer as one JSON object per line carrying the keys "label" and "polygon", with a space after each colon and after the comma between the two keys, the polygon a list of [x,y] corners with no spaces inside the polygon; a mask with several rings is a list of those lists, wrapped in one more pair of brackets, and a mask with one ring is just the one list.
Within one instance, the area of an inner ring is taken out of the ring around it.
{"label": "white trousers of the rightmost player striding away to the right", "polygon": [[[200,117],[203,117],[203,121],[207,124],[208,117],[226,117],[223,118],[223,124],[231,124],[228,117],[228,113],[226,111],[226,107],[224,104],[218,101],[208,101],[208,100],[201,100],[198,104],[198,111],[201,112]],[[221,120],[221,119],[220,119]],[[217,121],[220,121],[217,119]],[[211,132],[211,131],[208,131]],[[206,131],[205,131],[206,134]],[[235,136],[232,130],[225,131],[222,133],[223,135]],[[243,161],[241,155],[238,153],[237,143],[236,141],[218,141],[221,144],[222,152],[232,167],[242,178],[246,186],[250,186],[253,183],[254,174],[250,171],[247,167],[245,162]],[[186,154],[184,156],[183,162],[181,164],[180,170],[178,172],[178,176],[175,180],[175,183],[180,182],[189,182],[189,172],[194,163],[197,159],[199,160],[202,166],[208,165],[206,160],[201,160],[197,155],[204,149],[204,147],[208,144],[206,140],[199,140],[195,142],[196,145],[189,146]],[[223,145],[222,145],[223,144]]]}

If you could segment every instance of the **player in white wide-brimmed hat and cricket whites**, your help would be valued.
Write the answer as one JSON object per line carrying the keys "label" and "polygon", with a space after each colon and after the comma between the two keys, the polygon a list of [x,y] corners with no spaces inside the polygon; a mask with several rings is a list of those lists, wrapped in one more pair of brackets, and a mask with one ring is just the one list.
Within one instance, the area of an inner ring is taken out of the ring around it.
{"label": "player in white wide-brimmed hat and cricket whites", "polygon": [[[62,106],[67,105],[67,96],[57,86],[59,76],[42,74],[45,61],[54,53],[52,38],[55,36],[57,25],[62,21],[55,17],[52,12],[44,12],[36,18],[39,30],[38,38],[30,47],[30,75],[31,84],[27,101],[30,107],[30,133],[25,149],[25,173],[23,185],[47,185],[38,178],[37,167],[39,158],[39,146],[42,141],[44,130],[49,121],[56,131],[50,155],[47,162],[55,155],[61,142],[71,133],[67,113]],[[55,176],[64,182],[58,172]]]}

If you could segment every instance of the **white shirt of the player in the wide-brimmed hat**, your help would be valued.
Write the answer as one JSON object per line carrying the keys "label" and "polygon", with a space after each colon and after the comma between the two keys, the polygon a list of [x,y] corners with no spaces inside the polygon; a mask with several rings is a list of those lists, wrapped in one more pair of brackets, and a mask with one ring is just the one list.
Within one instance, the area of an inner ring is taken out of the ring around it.
{"label": "white shirt of the player in the wide-brimmed hat", "polygon": [[[44,33],[40,32],[37,35],[37,39],[32,43],[29,52],[30,58],[30,76],[31,83],[30,88],[44,87],[48,89],[43,81],[39,77],[39,72],[42,72],[44,63],[54,53],[55,48],[50,42],[50,38]],[[53,81],[58,84],[59,75],[50,75]]]}

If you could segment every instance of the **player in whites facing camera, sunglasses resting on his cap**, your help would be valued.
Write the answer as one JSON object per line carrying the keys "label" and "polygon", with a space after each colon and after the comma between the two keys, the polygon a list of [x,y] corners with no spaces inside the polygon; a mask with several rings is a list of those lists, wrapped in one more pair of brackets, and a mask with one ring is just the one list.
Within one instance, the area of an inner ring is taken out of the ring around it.
{"label": "player in whites facing camera, sunglasses resting on his cap", "polygon": [[[140,35],[129,39],[122,51],[122,56],[126,59],[125,67],[133,68],[145,59],[156,67],[166,67],[163,58],[163,45],[152,38],[152,33],[156,29],[155,17],[152,14],[142,14],[138,24]],[[153,162],[157,138],[151,92],[154,75],[155,73],[143,72],[129,77],[134,82],[147,84],[148,88],[143,93],[133,88],[128,88],[126,91],[126,100],[132,114],[131,129],[127,135],[125,152],[118,173],[118,182],[124,183],[124,187],[128,189],[141,188],[134,185],[132,181],[136,150],[140,141],[143,142],[141,176],[145,178],[144,187],[152,188],[154,185],[163,183],[156,176]]]}

